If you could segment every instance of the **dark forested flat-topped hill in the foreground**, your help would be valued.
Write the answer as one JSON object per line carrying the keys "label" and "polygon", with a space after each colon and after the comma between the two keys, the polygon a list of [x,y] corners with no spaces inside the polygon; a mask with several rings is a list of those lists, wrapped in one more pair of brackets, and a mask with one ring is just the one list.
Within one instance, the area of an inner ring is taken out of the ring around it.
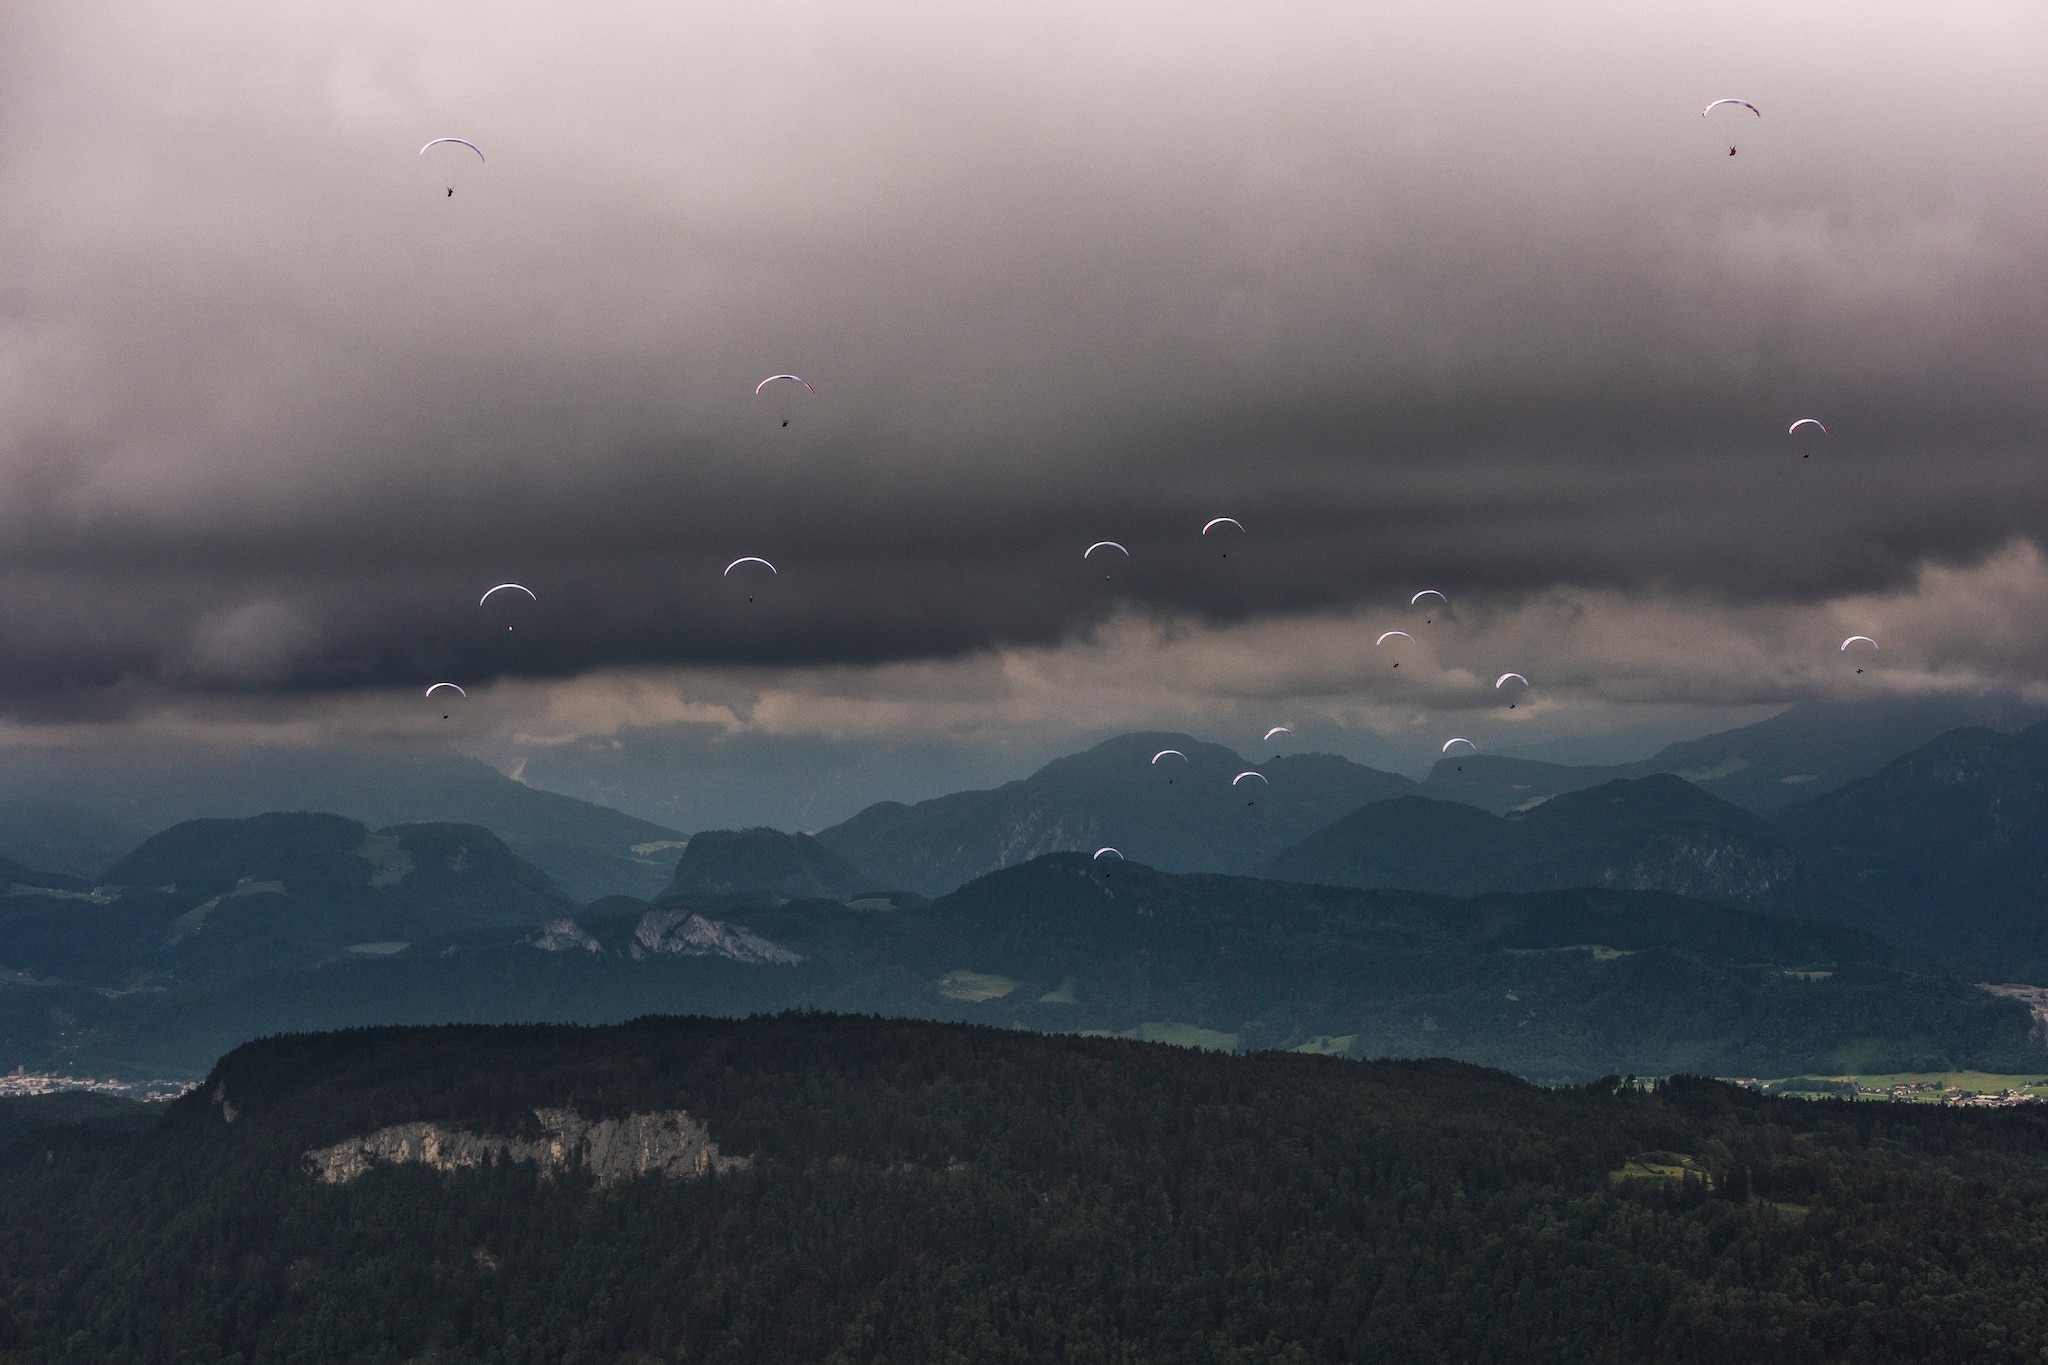
{"label": "dark forested flat-topped hill in the foreground", "polygon": [[[635,1121],[709,1146],[332,1158]],[[2038,1361],[2044,1193],[2028,1111],[836,1015],[371,1029],[240,1048],[143,1136],[6,1148],[0,1351]]]}

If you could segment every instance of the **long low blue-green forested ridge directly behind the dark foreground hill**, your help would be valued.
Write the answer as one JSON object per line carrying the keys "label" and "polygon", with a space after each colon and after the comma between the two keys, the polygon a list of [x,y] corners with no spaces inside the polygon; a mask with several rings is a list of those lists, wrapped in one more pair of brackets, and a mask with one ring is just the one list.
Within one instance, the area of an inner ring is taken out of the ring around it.
{"label": "long low blue-green forested ridge directly behind the dark foreground hill", "polygon": [[[209,911],[248,917],[229,943],[352,905],[233,886],[248,892]],[[182,905],[164,911],[190,915]],[[170,927],[162,911],[156,925]],[[1548,1081],[2048,1064],[2023,1005],[1919,970],[1855,927],[1634,890],[1456,898],[1051,853],[932,902],[614,900],[602,915],[367,948],[272,948],[168,990],[12,986],[0,990],[0,1064],[162,1076],[276,1031],[784,1009],[1450,1054]]]}

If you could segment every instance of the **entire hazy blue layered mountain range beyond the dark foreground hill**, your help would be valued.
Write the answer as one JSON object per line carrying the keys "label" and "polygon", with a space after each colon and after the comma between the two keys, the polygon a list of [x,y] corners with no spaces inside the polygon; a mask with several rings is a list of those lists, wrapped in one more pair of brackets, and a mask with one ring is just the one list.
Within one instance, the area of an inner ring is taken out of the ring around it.
{"label": "entire hazy blue layered mountain range beyond the dark foreground hill", "polygon": [[[0,1068],[195,1074],[279,1029],[788,1007],[1542,1078],[2025,1068],[2028,1009],[1964,980],[2048,980],[2044,755],[2048,724],[1964,726],[1761,814],[1673,774],[1489,812],[1436,778],[1128,735],[817,837],[625,849],[672,831],[469,759],[369,755],[322,780],[358,808],[379,774],[416,780],[383,804],[453,794],[528,835],[264,812],[172,825],[90,876],[4,862]],[[631,878],[528,857],[561,849]]]}

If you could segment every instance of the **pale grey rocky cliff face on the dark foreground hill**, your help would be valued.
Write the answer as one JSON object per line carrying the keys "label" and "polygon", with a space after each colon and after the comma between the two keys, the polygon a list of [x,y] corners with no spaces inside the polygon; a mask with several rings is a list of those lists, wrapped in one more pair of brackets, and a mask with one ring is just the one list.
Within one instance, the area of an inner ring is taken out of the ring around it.
{"label": "pale grey rocky cliff face on the dark foreground hill", "polygon": [[500,1138],[442,1124],[393,1124],[307,1152],[305,1169],[328,1185],[344,1185],[377,1162],[459,1171],[492,1160],[530,1160],[543,1175],[588,1171],[598,1189],[604,1189],[639,1175],[688,1181],[750,1164],[748,1156],[721,1156],[705,1126],[682,1109],[596,1124],[573,1109],[535,1109],[535,1117],[541,1119],[543,1138]]}

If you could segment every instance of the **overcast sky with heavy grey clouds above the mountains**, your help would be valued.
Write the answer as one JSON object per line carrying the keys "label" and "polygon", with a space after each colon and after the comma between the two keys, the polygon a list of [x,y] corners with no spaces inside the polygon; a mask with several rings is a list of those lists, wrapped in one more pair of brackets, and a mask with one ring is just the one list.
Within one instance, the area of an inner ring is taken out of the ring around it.
{"label": "overcast sky with heavy grey clouds above the mountains", "polygon": [[2032,2],[14,0],[6,735],[2038,694],[2044,59]]}

